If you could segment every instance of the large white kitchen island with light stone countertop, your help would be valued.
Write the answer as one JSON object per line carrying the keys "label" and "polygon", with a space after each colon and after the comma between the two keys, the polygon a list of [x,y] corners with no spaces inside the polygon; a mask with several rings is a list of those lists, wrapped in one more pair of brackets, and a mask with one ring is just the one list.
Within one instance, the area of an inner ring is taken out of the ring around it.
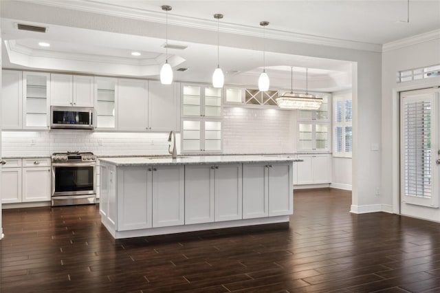
{"label": "large white kitchen island with light stone countertop", "polygon": [[289,221],[289,157],[100,158],[100,215],[115,239]]}

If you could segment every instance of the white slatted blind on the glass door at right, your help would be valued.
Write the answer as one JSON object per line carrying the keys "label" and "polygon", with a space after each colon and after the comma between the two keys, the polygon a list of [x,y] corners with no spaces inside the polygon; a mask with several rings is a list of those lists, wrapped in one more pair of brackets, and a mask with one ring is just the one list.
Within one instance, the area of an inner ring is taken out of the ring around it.
{"label": "white slatted blind on the glass door at right", "polygon": [[402,107],[404,118],[405,195],[432,196],[431,100],[408,100]]}

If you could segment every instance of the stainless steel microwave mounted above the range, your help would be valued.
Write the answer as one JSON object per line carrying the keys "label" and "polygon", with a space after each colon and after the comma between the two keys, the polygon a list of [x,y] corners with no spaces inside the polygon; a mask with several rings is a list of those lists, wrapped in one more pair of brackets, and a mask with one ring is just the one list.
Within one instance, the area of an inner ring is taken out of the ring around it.
{"label": "stainless steel microwave mounted above the range", "polygon": [[51,129],[94,129],[95,111],[89,107],[50,107]]}

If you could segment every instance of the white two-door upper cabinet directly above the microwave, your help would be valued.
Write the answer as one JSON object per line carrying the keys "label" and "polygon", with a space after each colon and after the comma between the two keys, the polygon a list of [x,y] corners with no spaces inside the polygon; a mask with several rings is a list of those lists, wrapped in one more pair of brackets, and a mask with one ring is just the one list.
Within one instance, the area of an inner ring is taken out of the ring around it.
{"label": "white two-door upper cabinet directly above the microwave", "polygon": [[94,76],[51,74],[50,105],[94,107]]}

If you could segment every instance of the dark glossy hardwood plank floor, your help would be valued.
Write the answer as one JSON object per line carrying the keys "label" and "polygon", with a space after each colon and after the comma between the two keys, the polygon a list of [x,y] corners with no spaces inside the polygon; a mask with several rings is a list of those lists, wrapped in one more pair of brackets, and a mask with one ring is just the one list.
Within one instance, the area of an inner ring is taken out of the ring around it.
{"label": "dark glossy hardwood plank floor", "polygon": [[115,241],[98,206],[3,210],[0,292],[440,292],[440,224],[295,191],[290,225]]}

